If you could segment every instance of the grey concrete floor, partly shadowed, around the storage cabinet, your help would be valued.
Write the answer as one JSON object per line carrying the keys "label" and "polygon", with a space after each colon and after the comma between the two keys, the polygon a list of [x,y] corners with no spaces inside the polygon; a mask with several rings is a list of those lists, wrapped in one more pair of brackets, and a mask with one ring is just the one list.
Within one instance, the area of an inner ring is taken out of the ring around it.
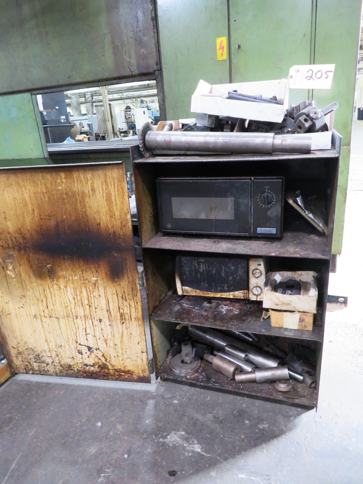
{"label": "grey concrete floor, partly shadowed, around the storage cabinet", "polygon": [[[363,188],[357,121],[352,144]],[[327,315],[317,412],[166,382],[17,376],[0,389],[0,484],[361,484],[362,205],[349,191],[330,280],[348,309]]]}

